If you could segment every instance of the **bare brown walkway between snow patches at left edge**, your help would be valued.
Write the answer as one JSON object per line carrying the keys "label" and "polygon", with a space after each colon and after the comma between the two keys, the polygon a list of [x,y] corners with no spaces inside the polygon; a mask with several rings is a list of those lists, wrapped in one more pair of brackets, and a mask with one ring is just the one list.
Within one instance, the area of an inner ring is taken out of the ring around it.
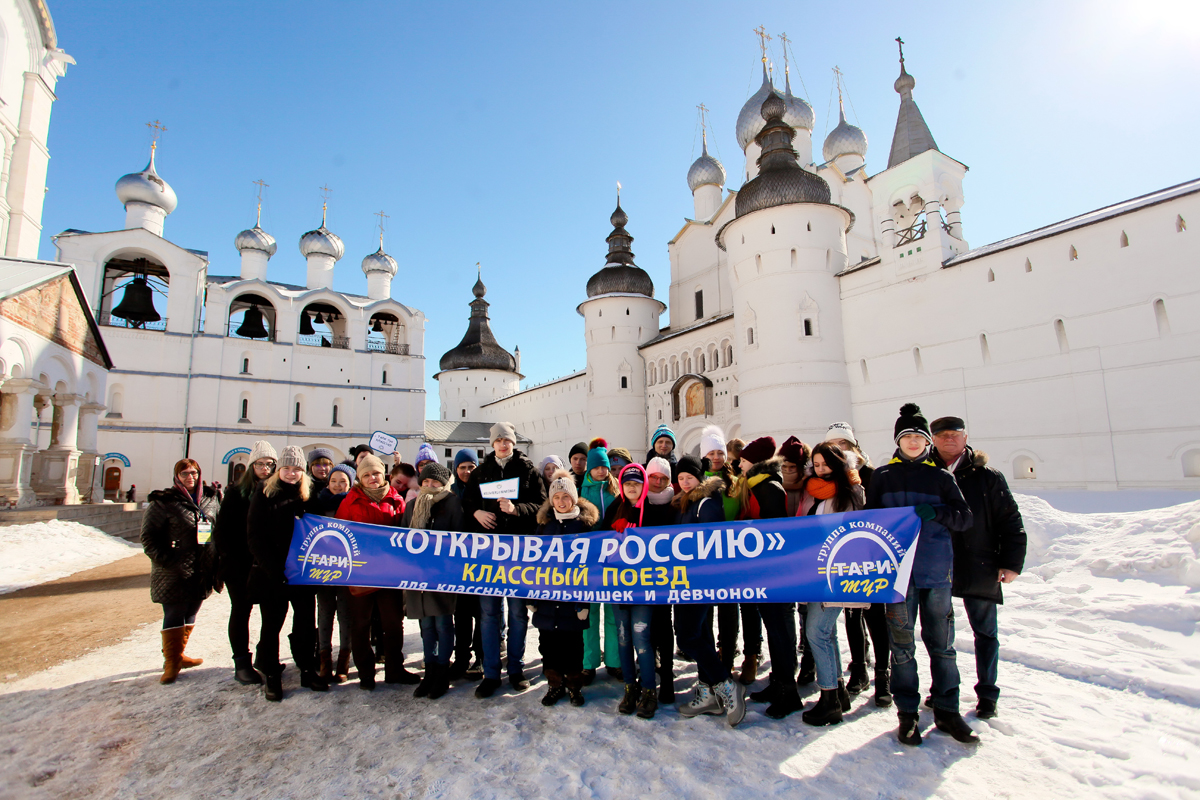
{"label": "bare brown walkway between snow patches at left edge", "polygon": [[0,595],[0,682],[116,644],[158,619],[144,554]]}

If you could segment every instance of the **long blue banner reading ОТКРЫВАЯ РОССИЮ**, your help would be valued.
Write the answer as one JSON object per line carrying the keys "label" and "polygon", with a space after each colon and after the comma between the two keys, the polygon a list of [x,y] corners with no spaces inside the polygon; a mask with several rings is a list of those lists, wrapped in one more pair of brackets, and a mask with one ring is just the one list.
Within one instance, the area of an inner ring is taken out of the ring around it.
{"label": "long blue banner reading \u041e\u0422\u041a\u0420\u042b\u0412\u0410\u042f \u0420\u041e\u0421\u0421\u0418\u042e", "polygon": [[288,583],[614,603],[899,602],[912,509],[509,536],[295,522]]}

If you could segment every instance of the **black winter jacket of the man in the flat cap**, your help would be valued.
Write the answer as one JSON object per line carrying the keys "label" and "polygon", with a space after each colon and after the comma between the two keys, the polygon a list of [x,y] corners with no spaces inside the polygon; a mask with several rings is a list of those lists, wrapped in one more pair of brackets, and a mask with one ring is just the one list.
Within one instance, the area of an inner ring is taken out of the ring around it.
{"label": "black winter jacket of the man in the flat cap", "polygon": [[[936,456],[934,462],[944,467]],[[1001,570],[1025,569],[1025,523],[1003,473],[988,467],[988,455],[967,447],[954,470],[954,480],[971,506],[974,523],[953,531],[954,596],[1004,602]]]}

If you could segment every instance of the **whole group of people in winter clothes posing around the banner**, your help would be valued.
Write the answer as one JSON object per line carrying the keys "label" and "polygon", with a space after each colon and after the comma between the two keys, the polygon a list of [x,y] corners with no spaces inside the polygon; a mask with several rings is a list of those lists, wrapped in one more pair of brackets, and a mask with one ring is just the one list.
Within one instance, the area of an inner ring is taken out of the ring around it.
{"label": "whole group of people in winter clothes posing around the banner", "polygon": [[[289,607],[288,642],[302,687],[320,692],[348,680],[353,658],[360,688],[374,688],[382,662],[385,682],[415,684],[414,696],[427,698],[442,697],[458,680],[478,681],[479,698],[499,691],[502,678],[514,691],[527,690],[532,616],[547,706],[564,698],[583,705],[584,687],[604,667],[624,684],[617,710],[650,718],[676,702],[674,662],[682,657],[697,669],[695,693],[678,706],[684,717],[725,715],[737,726],[749,699],[784,718],[804,709],[799,687],[816,682],[820,697],[802,717],[827,726],[874,684],[875,704],[896,708],[899,740],[919,745],[919,616],[932,673],[924,705],[938,729],[971,744],[978,738],[959,712],[952,604],[959,596],[976,640],[976,715],[997,714],[996,608],[1002,584],[1024,566],[1025,531],[1003,475],[967,444],[961,419],[930,425],[916,404],[905,404],[894,427],[895,455],[880,467],[845,422],[830,425],[812,447],[797,437],[780,445],[772,437],[726,441],[709,426],[700,455],[684,456],[676,452],[674,432],[659,426],[642,459],[598,438],[575,445],[565,461],[547,456],[540,465],[516,449],[512,425],[492,426],[490,438],[491,452],[476,458],[461,450],[452,470],[428,445],[415,464],[388,469],[366,445],[335,464],[323,447],[276,453],[256,441],[248,468],[223,498],[204,483],[194,461],[176,463],[173,485],[150,494],[142,533],[152,561],[151,596],[163,607],[162,682],[200,663],[185,654],[187,639],[200,603],[224,588],[234,676],[264,685],[268,700],[283,698],[280,634]],[[484,497],[482,485],[510,479],[517,481],[516,498]],[[292,585],[284,577],[294,521],[305,513],[427,530],[572,536],[906,506],[914,507],[922,530],[905,599],[896,603],[601,604]],[[262,630],[252,658],[256,604]],[[844,608],[846,670],[836,625]],[[404,667],[406,619],[420,626],[420,676]],[[760,679],[763,631],[770,673],[749,692]]]}

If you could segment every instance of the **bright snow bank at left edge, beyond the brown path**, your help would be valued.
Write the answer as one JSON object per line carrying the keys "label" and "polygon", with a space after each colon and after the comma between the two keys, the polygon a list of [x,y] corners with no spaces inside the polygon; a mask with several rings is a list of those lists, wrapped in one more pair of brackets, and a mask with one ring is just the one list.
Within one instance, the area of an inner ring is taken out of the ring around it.
{"label": "bright snow bank at left edge, beyond the brown path", "polygon": [[0,594],[64,578],[142,551],[77,522],[52,519],[0,528]]}

